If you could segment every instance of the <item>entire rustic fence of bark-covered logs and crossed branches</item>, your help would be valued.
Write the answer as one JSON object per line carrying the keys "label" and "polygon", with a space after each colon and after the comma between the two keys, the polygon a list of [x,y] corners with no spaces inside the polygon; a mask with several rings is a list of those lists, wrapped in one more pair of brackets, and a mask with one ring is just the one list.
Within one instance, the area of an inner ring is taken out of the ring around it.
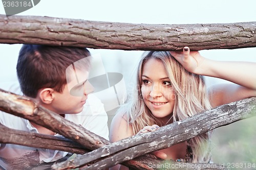
{"label": "entire rustic fence of bark-covered logs and crossed branches", "polygon": [[[0,43],[155,51],[182,50],[184,46],[189,46],[190,50],[233,49],[256,46],[256,22],[148,25],[0,15]],[[31,98],[0,89],[0,110],[29,119],[66,137],[18,131],[0,124],[0,142],[84,154],[54,164],[54,169],[104,169],[118,163],[130,169],[155,169],[149,163],[161,165],[166,161],[142,155],[253,116],[255,109],[256,98],[244,99],[161,127],[155,132],[110,143],[39,106]],[[88,153],[88,150],[93,151]],[[201,163],[196,167],[189,163],[167,163],[170,166],[175,164],[173,169],[227,169],[217,164],[206,164],[211,168],[202,168],[204,164]]]}

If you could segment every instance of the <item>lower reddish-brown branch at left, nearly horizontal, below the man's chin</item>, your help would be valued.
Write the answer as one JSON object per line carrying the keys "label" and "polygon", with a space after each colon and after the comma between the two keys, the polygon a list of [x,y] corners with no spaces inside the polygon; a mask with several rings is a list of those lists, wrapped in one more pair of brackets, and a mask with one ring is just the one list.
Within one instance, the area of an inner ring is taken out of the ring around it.
{"label": "lower reddish-brown branch at left, nearly horizontal, below the man's chin", "polygon": [[25,145],[27,147],[52,149],[66,151],[76,154],[90,152],[84,149],[81,144],[75,143],[63,136],[44,135],[35,132],[26,132],[7,128],[0,124],[0,143],[12,143]]}

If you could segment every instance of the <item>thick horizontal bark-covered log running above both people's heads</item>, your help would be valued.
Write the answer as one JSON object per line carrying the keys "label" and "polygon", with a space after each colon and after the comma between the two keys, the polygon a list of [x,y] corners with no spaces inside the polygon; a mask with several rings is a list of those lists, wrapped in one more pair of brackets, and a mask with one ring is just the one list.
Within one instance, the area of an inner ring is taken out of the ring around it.
{"label": "thick horizontal bark-covered log running above both people's heads", "polygon": [[0,43],[175,51],[256,46],[256,22],[150,25],[0,15]]}

